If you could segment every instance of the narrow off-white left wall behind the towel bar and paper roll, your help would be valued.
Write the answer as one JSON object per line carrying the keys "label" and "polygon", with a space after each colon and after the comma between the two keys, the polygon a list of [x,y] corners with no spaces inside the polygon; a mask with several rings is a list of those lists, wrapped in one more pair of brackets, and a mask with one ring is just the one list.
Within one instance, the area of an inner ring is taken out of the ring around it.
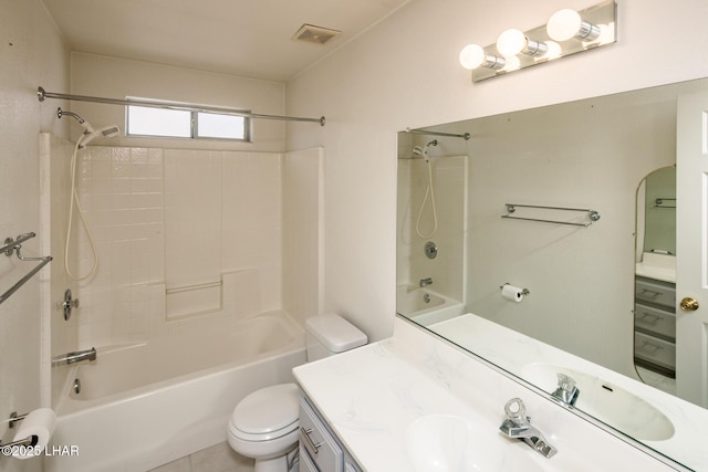
{"label": "narrow off-white left wall behind the towel bar and paper roll", "polygon": [[[64,135],[66,128],[58,123],[55,106],[41,105],[37,87],[69,86],[69,50],[54,23],[39,0],[0,1],[0,238],[19,233],[39,232],[40,171],[39,133],[41,130]],[[53,109],[52,109],[53,108]],[[39,255],[39,234],[23,245],[23,255]],[[44,255],[44,254],[42,254]],[[0,264],[0,291],[4,292],[32,263],[17,258]],[[46,268],[45,268],[46,269]],[[0,305],[0,411],[6,419],[11,411],[28,412],[40,407],[40,359],[42,350],[40,333],[44,331],[40,319],[41,272]],[[13,431],[0,423],[3,442]],[[40,470],[41,460],[17,461],[0,457],[0,470]]]}

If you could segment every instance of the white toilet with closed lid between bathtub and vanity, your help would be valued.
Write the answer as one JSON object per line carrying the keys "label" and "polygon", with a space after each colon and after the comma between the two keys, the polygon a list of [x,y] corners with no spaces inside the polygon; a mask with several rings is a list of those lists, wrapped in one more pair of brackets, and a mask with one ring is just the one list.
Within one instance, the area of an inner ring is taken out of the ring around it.
{"label": "white toilet with closed lid between bathtub and vanity", "polygon": [[[305,321],[308,361],[344,353],[366,344],[356,326],[335,314]],[[231,448],[256,460],[254,472],[289,472],[289,457],[298,448],[300,390],[279,384],[248,395],[229,418]]]}

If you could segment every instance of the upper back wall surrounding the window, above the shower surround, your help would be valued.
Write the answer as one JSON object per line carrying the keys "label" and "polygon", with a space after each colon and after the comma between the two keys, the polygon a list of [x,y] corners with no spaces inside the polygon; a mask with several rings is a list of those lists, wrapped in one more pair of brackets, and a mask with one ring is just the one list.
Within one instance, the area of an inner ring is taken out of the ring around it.
{"label": "upper back wall surrounding the window, above the shower surround", "polygon": [[[168,102],[231,106],[264,115],[284,115],[285,86],[281,82],[244,78],[80,52],[72,52],[71,67],[71,93],[76,95],[117,99],[136,96]],[[50,91],[49,87],[44,88]],[[252,120],[253,143],[229,143],[215,139],[174,139],[166,143],[165,139],[126,138],[123,106],[72,102],[70,111],[77,113],[95,126],[118,125],[121,136],[111,140],[113,145],[278,153],[284,150],[285,125],[284,122],[279,120]],[[74,122],[73,118],[69,119]],[[82,130],[75,122],[72,124],[74,138]]]}

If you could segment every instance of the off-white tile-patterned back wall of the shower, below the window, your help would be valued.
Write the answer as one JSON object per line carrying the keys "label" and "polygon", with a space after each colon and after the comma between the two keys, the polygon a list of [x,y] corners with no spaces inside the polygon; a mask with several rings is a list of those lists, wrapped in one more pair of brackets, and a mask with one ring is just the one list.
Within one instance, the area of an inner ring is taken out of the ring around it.
{"label": "off-white tile-patterned back wall of the shower, below the window", "polygon": [[[98,270],[80,283],[79,347],[189,329],[226,304],[241,316],[281,307],[281,154],[92,146],[80,157]],[[83,230],[79,243],[84,274]]]}

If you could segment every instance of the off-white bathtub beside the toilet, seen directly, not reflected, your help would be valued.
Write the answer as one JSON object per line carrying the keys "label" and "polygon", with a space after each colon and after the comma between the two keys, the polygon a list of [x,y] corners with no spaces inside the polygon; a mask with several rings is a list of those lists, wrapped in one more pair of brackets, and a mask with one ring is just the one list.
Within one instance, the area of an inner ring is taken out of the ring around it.
{"label": "off-white bathtub beside the toilet, seen directly, not reflected", "polygon": [[305,363],[304,332],[281,311],[97,352],[56,407],[50,448],[79,453],[46,455],[46,472],[146,471],[226,441],[242,398]]}

